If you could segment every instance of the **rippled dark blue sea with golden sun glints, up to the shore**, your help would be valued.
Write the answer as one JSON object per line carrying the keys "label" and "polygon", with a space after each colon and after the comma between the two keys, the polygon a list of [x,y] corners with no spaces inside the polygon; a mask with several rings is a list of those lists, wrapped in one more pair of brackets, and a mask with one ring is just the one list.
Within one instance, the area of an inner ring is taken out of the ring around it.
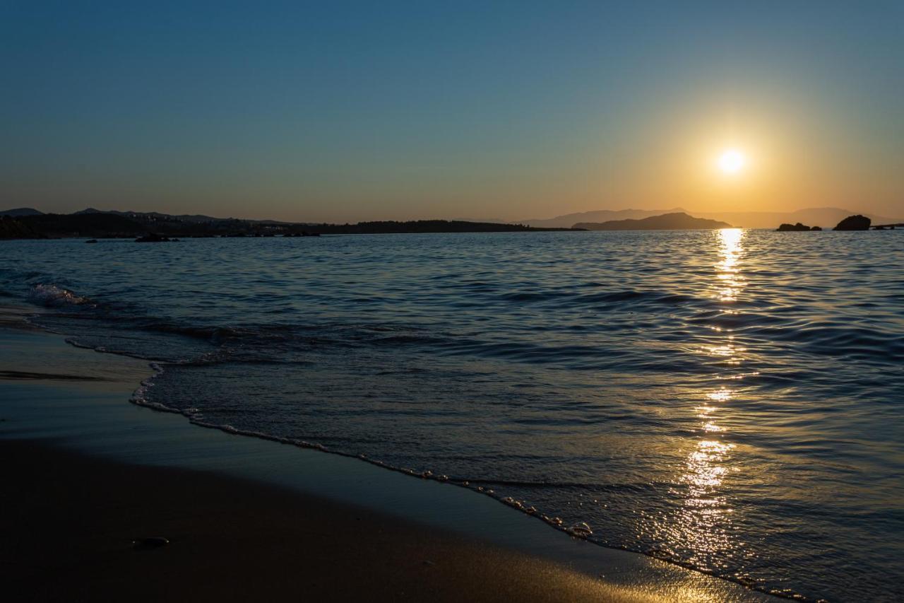
{"label": "rippled dark blue sea with golden sun glints, up to the shore", "polygon": [[757,589],[904,598],[904,232],[7,241],[0,295],[152,361],[135,401],[199,425]]}

